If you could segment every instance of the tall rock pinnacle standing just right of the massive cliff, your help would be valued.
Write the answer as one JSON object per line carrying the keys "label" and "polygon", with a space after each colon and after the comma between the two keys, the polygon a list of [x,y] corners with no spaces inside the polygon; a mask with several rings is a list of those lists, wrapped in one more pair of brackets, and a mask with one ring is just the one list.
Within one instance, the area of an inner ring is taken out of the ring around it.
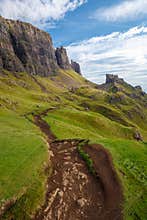
{"label": "tall rock pinnacle standing just right of the massive cliff", "polygon": [[57,64],[62,69],[71,69],[66,49],[64,47],[57,48],[55,51]]}

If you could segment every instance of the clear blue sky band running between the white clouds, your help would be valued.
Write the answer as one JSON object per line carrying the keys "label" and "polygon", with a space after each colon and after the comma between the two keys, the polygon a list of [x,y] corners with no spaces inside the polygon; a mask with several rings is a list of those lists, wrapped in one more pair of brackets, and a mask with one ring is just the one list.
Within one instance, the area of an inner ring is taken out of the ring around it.
{"label": "clear blue sky band running between the white clouds", "polygon": [[67,46],[73,42],[89,39],[94,36],[107,35],[115,31],[125,31],[131,27],[145,24],[143,18],[129,22],[107,22],[93,18],[96,9],[109,7],[123,2],[122,0],[89,0],[76,10],[65,14],[65,17],[56,23],[55,28],[47,31],[53,37],[55,46]]}

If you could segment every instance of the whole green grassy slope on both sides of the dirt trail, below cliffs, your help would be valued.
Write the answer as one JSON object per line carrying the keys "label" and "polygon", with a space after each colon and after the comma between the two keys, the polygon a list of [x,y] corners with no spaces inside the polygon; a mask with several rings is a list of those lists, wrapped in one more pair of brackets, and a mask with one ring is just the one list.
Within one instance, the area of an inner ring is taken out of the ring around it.
{"label": "whole green grassy slope on both sides of the dirt trail, below cliffs", "polygon": [[[146,121],[139,127],[139,116],[130,120],[124,113],[135,104],[126,99],[125,105],[110,105],[107,92],[91,87],[73,71],[61,71],[51,79],[36,79],[43,88],[25,73],[0,75],[1,202],[20,197],[10,213],[15,213],[16,219],[23,219],[22,215],[29,219],[32,207],[36,208],[43,200],[47,146],[39,130],[24,115],[57,106],[60,109],[45,118],[53,132],[58,138],[89,138],[107,147],[124,185],[126,219],[145,219],[146,144],[137,143],[132,137],[134,129],[138,129],[147,140]],[[80,88],[69,92],[67,85],[70,90]],[[143,111],[147,115],[144,108]]]}

